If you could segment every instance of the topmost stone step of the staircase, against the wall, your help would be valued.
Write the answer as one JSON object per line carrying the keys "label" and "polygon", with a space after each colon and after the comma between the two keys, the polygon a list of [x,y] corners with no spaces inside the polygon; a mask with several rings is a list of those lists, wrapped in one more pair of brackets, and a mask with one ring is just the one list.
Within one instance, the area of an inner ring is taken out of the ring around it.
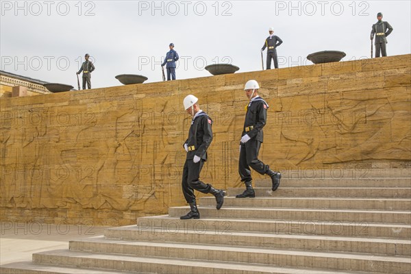
{"label": "topmost stone step of the staircase, against the wall", "polygon": [[[277,169],[274,170],[277,171]],[[279,171],[282,178],[290,179],[411,178],[411,169],[280,169]]]}

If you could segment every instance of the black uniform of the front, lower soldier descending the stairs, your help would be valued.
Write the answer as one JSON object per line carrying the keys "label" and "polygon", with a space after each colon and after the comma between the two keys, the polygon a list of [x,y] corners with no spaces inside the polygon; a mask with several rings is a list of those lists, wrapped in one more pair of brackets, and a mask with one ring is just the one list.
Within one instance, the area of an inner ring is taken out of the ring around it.
{"label": "black uniform of the front, lower soldier descending the stairs", "polygon": [[[195,202],[193,189],[210,193],[212,188],[210,184],[204,184],[199,180],[201,169],[207,160],[207,149],[212,141],[211,126],[212,120],[206,112],[197,112],[192,119],[188,139],[184,142],[184,145],[188,146],[188,152],[183,168],[182,188],[187,203]],[[192,162],[195,155],[201,158],[197,163]]]}

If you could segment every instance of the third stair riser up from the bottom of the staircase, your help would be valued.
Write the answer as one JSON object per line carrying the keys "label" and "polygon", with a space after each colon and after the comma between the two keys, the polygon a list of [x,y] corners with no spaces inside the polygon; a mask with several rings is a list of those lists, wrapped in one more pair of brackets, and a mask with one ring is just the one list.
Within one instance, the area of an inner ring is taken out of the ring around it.
{"label": "third stair riser up from the bottom of the staircase", "polygon": [[[188,249],[181,247],[151,247],[121,245],[99,242],[70,242],[70,250],[91,251],[95,253],[121,253],[144,257],[182,258],[190,260],[211,260],[240,262],[249,264],[272,264],[275,266],[307,267],[342,271],[371,271],[382,273],[409,273],[410,264],[384,262],[377,260],[353,260],[345,258],[324,258],[315,256],[296,256],[289,254],[249,253],[242,251],[221,251],[210,249]],[[408,272],[406,272],[408,271]]]}

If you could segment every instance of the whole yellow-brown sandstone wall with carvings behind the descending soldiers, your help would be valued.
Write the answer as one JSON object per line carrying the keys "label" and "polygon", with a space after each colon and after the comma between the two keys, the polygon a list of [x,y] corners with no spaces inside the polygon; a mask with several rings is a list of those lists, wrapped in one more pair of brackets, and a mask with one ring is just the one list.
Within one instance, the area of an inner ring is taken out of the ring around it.
{"label": "whole yellow-brown sandstone wall with carvings behind the descending soldiers", "polygon": [[411,55],[398,55],[2,98],[0,218],[127,225],[184,205],[188,94],[214,120],[202,179],[240,186],[249,79],[270,105],[260,158],[273,169],[410,166],[410,74]]}

